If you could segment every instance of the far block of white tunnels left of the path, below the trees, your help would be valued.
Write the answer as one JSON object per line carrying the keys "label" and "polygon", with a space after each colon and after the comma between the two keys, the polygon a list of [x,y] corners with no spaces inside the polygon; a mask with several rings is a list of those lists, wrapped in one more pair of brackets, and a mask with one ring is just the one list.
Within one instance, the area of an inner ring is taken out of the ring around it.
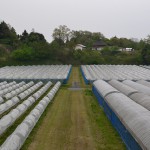
{"label": "far block of white tunnels left of the path, below the trees", "polygon": [[64,81],[68,79],[71,65],[6,66],[0,68],[1,81]]}

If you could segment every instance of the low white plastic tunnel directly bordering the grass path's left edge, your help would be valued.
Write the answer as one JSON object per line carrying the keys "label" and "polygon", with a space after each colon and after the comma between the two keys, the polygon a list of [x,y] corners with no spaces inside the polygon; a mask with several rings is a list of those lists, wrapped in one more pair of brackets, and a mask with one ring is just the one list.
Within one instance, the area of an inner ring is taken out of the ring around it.
{"label": "low white plastic tunnel directly bordering the grass path's left edge", "polygon": [[[27,137],[29,136],[30,132],[38,122],[39,118],[41,117],[42,113],[48,106],[48,104],[53,99],[55,93],[58,91],[61,83],[57,82],[55,86],[52,88],[49,94],[51,93],[52,96],[49,98],[45,96],[39,104],[30,112],[30,114],[24,119],[24,121],[16,128],[16,130],[6,139],[6,141],[1,145],[1,150],[19,150]],[[9,120],[11,120],[9,118]]]}

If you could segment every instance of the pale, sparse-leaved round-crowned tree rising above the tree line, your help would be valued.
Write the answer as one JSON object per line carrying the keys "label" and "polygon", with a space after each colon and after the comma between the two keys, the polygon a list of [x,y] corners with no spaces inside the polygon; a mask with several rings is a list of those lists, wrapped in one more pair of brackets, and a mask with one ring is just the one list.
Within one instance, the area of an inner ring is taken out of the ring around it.
{"label": "pale, sparse-leaved round-crowned tree rising above the tree line", "polygon": [[66,43],[70,38],[70,29],[66,25],[60,25],[54,29],[52,37],[54,40],[60,40]]}

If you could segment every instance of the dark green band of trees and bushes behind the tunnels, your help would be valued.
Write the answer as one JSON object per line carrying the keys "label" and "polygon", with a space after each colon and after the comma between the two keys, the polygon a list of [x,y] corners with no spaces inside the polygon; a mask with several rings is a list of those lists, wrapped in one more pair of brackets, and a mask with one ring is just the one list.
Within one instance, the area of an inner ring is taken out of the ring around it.
{"label": "dark green band of trees and bushes behind the tunnels", "polygon": [[[55,28],[53,41],[44,35],[26,30],[18,35],[4,21],[0,23],[0,63],[19,64],[150,64],[150,36],[140,41],[134,39],[106,38],[101,32],[75,31],[65,25]],[[101,51],[92,50],[93,43],[103,40],[107,46]],[[83,44],[86,50],[74,50]],[[131,47],[132,53],[120,52],[119,48]]]}

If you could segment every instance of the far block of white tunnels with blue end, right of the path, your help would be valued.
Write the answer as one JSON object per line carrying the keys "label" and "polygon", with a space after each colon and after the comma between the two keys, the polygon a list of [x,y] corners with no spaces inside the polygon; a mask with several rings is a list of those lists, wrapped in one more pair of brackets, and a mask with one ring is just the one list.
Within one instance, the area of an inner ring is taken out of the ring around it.
{"label": "far block of white tunnels with blue end, right of the path", "polygon": [[150,80],[150,70],[136,65],[82,65],[82,75],[85,82],[95,80]]}

